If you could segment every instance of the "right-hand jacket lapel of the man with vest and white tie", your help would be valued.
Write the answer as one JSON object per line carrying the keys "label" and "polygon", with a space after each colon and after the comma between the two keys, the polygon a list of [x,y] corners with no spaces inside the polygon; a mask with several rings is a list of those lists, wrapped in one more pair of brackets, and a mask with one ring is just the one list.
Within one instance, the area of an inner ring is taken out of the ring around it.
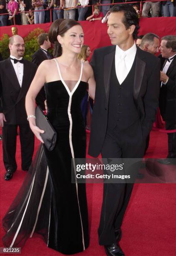
{"label": "right-hand jacket lapel of the man with vest and white tie", "polygon": [[133,97],[134,100],[137,101],[139,92],[141,90],[141,84],[143,80],[143,75],[146,68],[146,62],[143,61],[143,57],[141,56],[141,49],[137,48],[136,51],[136,68],[134,75],[134,87],[133,87]]}

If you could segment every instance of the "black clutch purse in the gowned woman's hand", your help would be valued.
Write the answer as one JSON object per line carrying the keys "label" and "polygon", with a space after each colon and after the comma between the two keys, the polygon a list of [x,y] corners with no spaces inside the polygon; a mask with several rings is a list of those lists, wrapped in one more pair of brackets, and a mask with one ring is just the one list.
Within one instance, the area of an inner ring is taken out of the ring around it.
{"label": "black clutch purse in the gowned woman's hand", "polygon": [[45,133],[40,133],[40,136],[42,137],[44,144],[46,148],[49,151],[52,151],[55,147],[56,139],[57,139],[57,133],[55,132],[53,126],[48,121],[48,118],[43,114],[42,109],[37,106],[35,109],[35,123],[36,125]]}

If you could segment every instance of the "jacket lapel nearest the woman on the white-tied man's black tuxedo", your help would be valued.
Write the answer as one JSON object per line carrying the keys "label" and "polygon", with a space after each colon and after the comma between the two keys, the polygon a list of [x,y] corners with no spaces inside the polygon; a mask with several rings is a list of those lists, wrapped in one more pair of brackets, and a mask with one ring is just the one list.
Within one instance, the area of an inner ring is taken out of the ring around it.
{"label": "jacket lapel nearest the woman on the white-tied man's black tuxedo", "polygon": [[112,70],[113,60],[114,60],[115,51],[116,51],[116,46],[112,46],[112,47],[113,47],[112,52],[110,54],[105,55],[105,57],[104,57],[104,85],[105,85],[107,106],[108,106],[108,101],[109,101],[111,70]]}

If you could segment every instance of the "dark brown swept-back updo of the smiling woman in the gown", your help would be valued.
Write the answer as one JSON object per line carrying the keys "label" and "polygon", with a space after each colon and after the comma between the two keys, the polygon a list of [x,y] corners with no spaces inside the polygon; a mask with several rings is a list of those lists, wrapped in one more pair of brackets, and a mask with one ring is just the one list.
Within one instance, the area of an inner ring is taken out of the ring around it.
{"label": "dark brown swept-back updo of the smiling woman in the gown", "polygon": [[80,23],[78,23],[78,21],[71,19],[59,19],[55,20],[51,24],[50,30],[48,32],[48,38],[50,42],[53,44],[53,56],[55,58],[62,55],[62,47],[61,44],[58,42],[57,36],[64,36],[65,32],[67,32],[70,28],[76,25],[81,26]]}

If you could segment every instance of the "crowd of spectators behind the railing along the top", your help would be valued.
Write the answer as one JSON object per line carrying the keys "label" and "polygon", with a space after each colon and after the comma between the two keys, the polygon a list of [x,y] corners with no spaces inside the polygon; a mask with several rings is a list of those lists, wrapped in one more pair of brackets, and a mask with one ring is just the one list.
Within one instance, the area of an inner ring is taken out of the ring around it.
{"label": "crowd of spectators behind the railing along the top", "polygon": [[[125,1],[113,1],[113,3],[121,2]],[[142,13],[140,13],[139,3],[131,4],[130,2],[133,1],[128,0],[126,3],[133,5],[139,18],[176,16],[176,0],[143,3]],[[13,25],[14,18],[17,25],[47,23],[50,22],[51,17],[52,21],[60,18],[101,20],[107,16],[111,3],[111,0],[0,0],[0,14],[4,14],[0,15],[0,26]],[[93,14],[90,5],[98,5]],[[52,10],[51,17],[50,10]]]}

